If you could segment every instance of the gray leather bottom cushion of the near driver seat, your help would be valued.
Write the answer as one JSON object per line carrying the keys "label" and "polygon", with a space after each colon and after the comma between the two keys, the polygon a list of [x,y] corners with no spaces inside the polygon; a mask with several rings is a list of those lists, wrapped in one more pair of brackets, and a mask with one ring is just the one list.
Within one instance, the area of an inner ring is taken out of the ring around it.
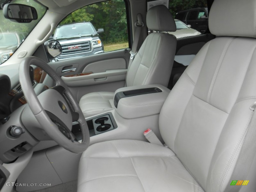
{"label": "gray leather bottom cushion of the near driver seat", "polygon": [[116,140],[91,145],[81,156],[78,192],[203,191],[166,147]]}

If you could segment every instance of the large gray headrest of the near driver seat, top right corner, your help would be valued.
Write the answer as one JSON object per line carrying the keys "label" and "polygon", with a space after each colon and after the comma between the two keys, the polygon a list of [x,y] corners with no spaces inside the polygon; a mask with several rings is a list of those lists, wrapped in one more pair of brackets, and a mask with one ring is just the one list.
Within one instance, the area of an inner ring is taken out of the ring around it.
{"label": "large gray headrest of the near driver seat, top right corner", "polygon": [[256,37],[256,1],[215,0],[209,29],[214,35]]}

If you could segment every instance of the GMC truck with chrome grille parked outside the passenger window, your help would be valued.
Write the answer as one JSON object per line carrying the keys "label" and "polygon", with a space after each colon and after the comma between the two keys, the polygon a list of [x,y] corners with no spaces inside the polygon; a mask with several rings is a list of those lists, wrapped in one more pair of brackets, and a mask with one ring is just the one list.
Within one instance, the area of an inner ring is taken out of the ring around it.
{"label": "GMC truck with chrome grille parked outside the passenger window", "polygon": [[96,31],[90,22],[59,25],[53,39],[60,42],[62,54],[56,61],[103,53],[103,43],[99,38],[103,32],[103,29]]}

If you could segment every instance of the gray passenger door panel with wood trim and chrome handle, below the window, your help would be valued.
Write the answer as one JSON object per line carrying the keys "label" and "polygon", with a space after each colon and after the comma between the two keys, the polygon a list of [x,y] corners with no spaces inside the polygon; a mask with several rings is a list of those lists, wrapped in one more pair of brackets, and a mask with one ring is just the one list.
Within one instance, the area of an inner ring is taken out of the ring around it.
{"label": "gray passenger door panel with wood trim and chrome handle, below the window", "polygon": [[[76,75],[85,72],[92,74],[62,77],[79,101],[84,94],[95,91],[115,91],[124,86],[130,49],[121,49],[86,57],[67,59],[48,64],[59,76]],[[72,72],[62,72],[75,69]]]}

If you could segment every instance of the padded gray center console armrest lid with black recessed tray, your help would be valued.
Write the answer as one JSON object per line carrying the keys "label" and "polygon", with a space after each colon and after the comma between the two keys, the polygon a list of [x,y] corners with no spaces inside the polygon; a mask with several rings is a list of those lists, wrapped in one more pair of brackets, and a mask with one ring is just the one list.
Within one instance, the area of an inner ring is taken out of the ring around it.
{"label": "padded gray center console armrest lid with black recessed tray", "polygon": [[170,90],[162,85],[123,87],[115,91],[116,112],[125,119],[159,114]]}

